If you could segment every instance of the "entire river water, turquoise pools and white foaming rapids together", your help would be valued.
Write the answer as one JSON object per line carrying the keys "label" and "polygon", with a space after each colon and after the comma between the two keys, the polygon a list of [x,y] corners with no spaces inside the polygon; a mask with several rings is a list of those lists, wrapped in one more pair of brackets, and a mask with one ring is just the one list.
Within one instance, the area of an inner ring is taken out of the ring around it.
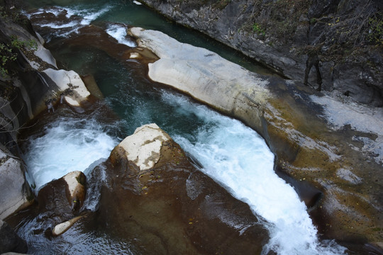
{"label": "entire river water, turquoise pools and white foaming rapids together", "polygon": [[[28,138],[25,155],[35,191],[73,170],[84,171],[109,153],[135,128],[157,123],[201,163],[201,171],[250,205],[270,232],[264,247],[277,254],[343,254],[333,241],[321,240],[294,188],[273,170],[274,155],[260,135],[238,120],[216,113],[186,96],[153,84],[136,62],[121,62],[100,47],[67,43],[89,25],[102,28],[119,44],[135,47],[126,26],[140,26],[196,46],[206,47],[252,72],[267,69],[204,35],[174,25],[130,1],[28,1],[28,16],[66,69],[91,74],[106,103],[121,118],[113,125],[63,116]],[[69,39],[68,39],[69,38]],[[96,43],[95,43],[96,44]],[[113,47],[113,45],[111,45]],[[117,130],[117,131],[116,131]],[[54,170],[52,170],[54,169]],[[103,242],[103,241],[99,241]],[[121,248],[121,244],[113,244]],[[119,248],[119,249],[120,249]],[[123,249],[118,253],[123,253]]]}

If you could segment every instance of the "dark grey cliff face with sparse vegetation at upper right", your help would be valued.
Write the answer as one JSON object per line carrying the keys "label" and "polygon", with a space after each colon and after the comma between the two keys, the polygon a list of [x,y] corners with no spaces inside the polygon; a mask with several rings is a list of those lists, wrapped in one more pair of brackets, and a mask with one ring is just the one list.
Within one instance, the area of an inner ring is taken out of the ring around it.
{"label": "dark grey cliff face with sparse vegetation at upper right", "polygon": [[382,4],[360,0],[143,0],[289,79],[383,106]]}

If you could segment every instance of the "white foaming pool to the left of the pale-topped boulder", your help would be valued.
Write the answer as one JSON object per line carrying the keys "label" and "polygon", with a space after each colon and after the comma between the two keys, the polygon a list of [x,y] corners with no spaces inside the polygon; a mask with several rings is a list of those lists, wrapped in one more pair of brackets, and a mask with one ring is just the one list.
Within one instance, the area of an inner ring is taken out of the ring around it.
{"label": "white foaming pool to the left of the pale-topped boulder", "polygon": [[45,128],[45,135],[29,140],[24,157],[35,192],[71,171],[84,171],[96,160],[108,158],[118,144],[96,120],[62,118]]}

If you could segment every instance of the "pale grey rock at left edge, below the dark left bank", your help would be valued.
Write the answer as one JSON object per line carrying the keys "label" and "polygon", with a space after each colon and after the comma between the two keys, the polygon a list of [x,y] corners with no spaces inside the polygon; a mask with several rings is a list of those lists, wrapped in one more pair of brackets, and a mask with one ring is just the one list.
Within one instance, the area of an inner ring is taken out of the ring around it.
{"label": "pale grey rock at left edge, below the dark left bank", "polygon": [[0,166],[0,220],[3,220],[13,212],[30,205],[30,202],[23,188],[26,180],[21,163],[6,157],[1,161],[5,161]]}

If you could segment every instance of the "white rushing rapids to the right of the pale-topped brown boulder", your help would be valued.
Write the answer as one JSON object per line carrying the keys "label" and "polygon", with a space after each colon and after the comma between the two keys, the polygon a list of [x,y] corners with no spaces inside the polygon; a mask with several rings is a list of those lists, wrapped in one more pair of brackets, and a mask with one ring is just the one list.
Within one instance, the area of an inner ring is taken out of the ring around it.
{"label": "white rushing rapids to the right of the pale-topped brown boulder", "polygon": [[202,164],[201,171],[266,221],[270,242],[264,247],[265,254],[270,250],[282,255],[344,253],[345,248],[335,242],[318,241],[306,205],[294,188],[275,174],[274,155],[257,132],[184,97],[164,93],[162,99],[177,111],[206,122],[194,134],[195,141],[180,135],[173,138]]}

